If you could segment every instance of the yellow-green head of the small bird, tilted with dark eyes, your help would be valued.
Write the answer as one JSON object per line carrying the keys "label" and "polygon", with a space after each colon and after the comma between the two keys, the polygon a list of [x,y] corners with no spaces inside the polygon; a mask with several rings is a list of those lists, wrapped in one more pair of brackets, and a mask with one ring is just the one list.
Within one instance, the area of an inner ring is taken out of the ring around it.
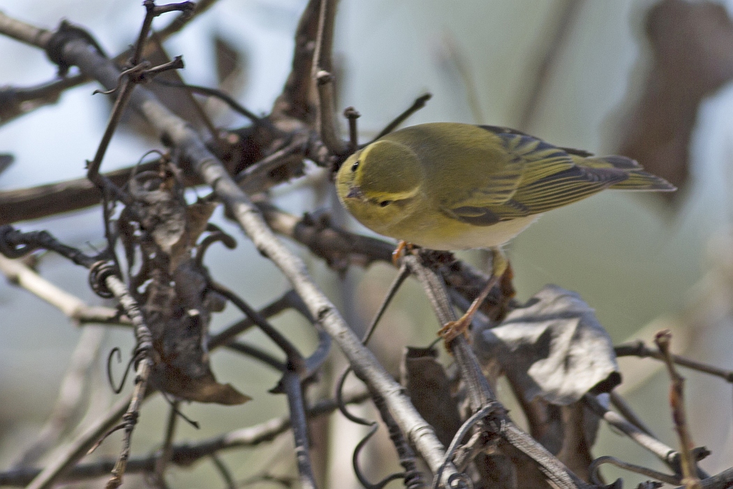
{"label": "yellow-green head of the small bird, tilted with dark eyes", "polygon": [[418,205],[423,179],[417,155],[403,144],[376,141],[336,174],[339,199],[361,224],[383,235]]}

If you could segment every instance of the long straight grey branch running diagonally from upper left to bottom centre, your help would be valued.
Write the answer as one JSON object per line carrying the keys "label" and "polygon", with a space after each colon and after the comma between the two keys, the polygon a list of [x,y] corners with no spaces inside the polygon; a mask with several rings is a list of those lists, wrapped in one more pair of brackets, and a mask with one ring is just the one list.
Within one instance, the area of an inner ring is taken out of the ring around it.
{"label": "long straight grey branch running diagonally from upper left to bottom centre", "polygon": [[[119,70],[99,51],[90,49],[88,40],[81,38],[69,40],[61,51],[62,61],[65,64],[78,66],[82,73],[94,77],[107,89],[117,86]],[[273,260],[298,295],[301,295],[311,315],[319,320],[325,331],[345,353],[356,375],[364,380],[370,389],[383,395],[397,424],[416,446],[428,466],[433,471],[438,471],[443,463],[443,446],[430,424],[422,419],[405,396],[402,387],[386,372],[375,356],[361,345],[336,307],[314,284],[303,261],[273,235],[257,207],[237,187],[224,164],[207,149],[198,134],[184,120],[166,109],[152,92],[143,87],[135,87],[129,103],[158,130],[164,140],[180,150],[183,159],[189,161],[196,173],[211,185],[216,196],[224,202],[227,212],[236,219],[257,249]],[[134,318],[131,319],[134,321]],[[444,474],[446,477],[452,477],[450,470],[444,471]]]}

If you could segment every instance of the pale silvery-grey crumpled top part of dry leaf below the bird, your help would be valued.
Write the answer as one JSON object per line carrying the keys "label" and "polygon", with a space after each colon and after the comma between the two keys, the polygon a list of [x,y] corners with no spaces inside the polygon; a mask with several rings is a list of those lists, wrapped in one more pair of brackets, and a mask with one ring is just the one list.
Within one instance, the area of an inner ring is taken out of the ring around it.
{"label": "pale silvery-grey crumpled top part of dry leaf below the bird", "polygon": [[593,390],[621,382],[611,338],[577,293],[546,285],[526,306],[478,335],[476,353],[498,361],[515,388],[531,401],[570,405]]}

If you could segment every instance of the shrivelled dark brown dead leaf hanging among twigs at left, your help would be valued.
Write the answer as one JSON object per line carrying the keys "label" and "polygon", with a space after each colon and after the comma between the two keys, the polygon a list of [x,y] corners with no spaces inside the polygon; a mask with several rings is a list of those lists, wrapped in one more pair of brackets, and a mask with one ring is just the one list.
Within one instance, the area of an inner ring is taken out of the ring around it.
{"label": "shrivelled dark brown dead leaf hanging among twigs at left", "polygon": [[216,381],[205,343],[221,301],[209,290],[206,268],[192,251],[216,205],[187,205],[182,185],[165,169],[142,172],[128,187],[135,211],[123,210],[119,231],[128,260],[136,246],[143,260],[137,275],[130,270],[130,282],[152,334],[152,384],[185,400],[246,402],[247,396]]}

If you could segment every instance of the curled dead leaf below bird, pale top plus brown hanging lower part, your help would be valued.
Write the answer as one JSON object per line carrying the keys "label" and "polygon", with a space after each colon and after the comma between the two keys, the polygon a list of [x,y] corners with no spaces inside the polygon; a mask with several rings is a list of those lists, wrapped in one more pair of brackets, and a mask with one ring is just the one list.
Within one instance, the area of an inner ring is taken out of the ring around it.
{"label": "curled dead leaf below bird, pale top plus brown hanging lower part", "polygon": [[[611,338],[593,309],[577,293],[546,285],[499,326],[480,331],[475,348],[485,369],[507,375],[531,435],[589,480],[599,420],[578,401],[589,391],[608,392],[621,381]],[[515,465],[522,466],[521,461]]]}

